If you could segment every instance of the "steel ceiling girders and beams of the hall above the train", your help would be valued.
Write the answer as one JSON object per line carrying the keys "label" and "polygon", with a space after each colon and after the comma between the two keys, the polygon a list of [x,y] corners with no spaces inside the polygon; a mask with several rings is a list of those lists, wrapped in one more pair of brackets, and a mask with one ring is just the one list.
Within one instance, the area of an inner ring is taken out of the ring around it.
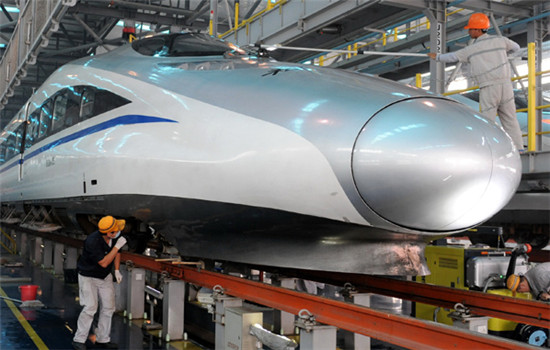
{"label": "steel ceiling girders and beams of the hall above the train", "polygon": [[[239,26],[228,32],[235,25],[237,3]],[[491,14],[502,34],[522,47],[534,39],[542,42],[550,19],[550,3],[532,0],[0,0],[1,126],[55,69],[125,43],[123,25],[136,28],[138,38],[163,31],[208,33],[211,11],[215,32],[238,45],[341,49],[376,42],[368,50],[423,53],[435,35],[433,26],[422,25],[426,19],[446,28],[444,51],[467,43],[462,28],[474,11]],[[294,50],[272,55],[291,62],[319,62],[327,56]],[[394,80],[433,65],[426,57],[405,56],[344,55],[326,62]]]}

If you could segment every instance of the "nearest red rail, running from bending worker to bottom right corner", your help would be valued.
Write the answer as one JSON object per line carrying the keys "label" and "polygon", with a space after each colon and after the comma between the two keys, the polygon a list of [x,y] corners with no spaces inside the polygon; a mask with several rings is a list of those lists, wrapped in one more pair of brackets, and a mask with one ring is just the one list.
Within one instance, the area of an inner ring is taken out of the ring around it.
{"label": "nearest red rail, running from bending worker to bottom right corner", "polygon": [[213,288],[219,285],[227,295],[295,315],[301,310],[307,309],[318,322],[407,348],[532,349],[526,344],[503,338],[384,313],[350,303],[233,276],[158,262],[141,255],[123,252],[122,259],[123,261],[130,260],[135,266],[141,266],[152,271],[166,271],[173,277],[200,286]]}

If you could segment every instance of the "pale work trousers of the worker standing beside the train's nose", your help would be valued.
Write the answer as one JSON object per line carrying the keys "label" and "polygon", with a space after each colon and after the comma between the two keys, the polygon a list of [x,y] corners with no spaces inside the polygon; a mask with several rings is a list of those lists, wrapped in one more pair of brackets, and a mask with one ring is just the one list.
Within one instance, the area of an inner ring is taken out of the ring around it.
{"label": "pale work trousers of the worker standing beside the train's nose", "polygon": [[523,149],[523,138],[516,116],[514,90],[509,83],[482,87],[479,90],[479,104],[485,118],[496,120],[497,114],[504,131],[508,133],[516,148]]}

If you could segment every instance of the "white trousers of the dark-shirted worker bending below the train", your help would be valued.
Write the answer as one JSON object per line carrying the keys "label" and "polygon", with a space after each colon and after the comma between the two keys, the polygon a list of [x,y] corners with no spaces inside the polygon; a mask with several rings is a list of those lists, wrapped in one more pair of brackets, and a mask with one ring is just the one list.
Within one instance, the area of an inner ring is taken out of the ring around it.
{"label": "white trousers of the dark-shirted worker bending below the train", "polygon": [[79,274],[78,289],[80,305],[83,306],[83,309],[80,312],[80,316],[78,316],[78,328],[73,341],[78,343],[86,342],[94,315],[97,312],[98,306],[101,305],[96,330],[96,341],[99,343],[110,342],[111,319],[115,312],[115,285],[113,283],[113,276],[109,274],[105,279],[99,279]]}

